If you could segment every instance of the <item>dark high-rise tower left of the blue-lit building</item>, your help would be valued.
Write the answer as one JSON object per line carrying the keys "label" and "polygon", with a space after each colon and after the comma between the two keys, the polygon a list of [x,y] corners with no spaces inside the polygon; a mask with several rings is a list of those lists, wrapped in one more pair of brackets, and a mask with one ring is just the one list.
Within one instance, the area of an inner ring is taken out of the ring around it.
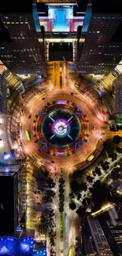
{"label": "dark high-rise tower left of the blue-lit building", "polygon": [[0,55],[10,72],[42,74],[44,45],[35,3],[2,1]]}

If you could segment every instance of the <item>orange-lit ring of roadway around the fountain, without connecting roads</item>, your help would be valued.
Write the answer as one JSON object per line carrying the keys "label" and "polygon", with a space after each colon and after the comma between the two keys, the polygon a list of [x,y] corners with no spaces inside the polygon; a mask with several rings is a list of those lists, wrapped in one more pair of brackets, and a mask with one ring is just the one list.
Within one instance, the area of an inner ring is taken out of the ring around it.
{"label": "orange-lit ring of roadway around the fountain, without connecting roads", "polygon": [[[79,106],[83,109],[84,113],[87,113],[88,119],[88,127],[89,127],[89,138],[88,142],[83,144],[83,147],[76,152],[76,154],[71,155],[70,157],[58,157],[55,158],[58,167],[71,167],[72,165],[76,165],[81,161],[84,161],[88,155],[90,155],[93,150],[95,150],[96,144],[98,143],[98,139],[101,137],[101,127],[104,126],[104,122],[101,117],[101,113],[98,112],[95,106],[91,105],[90,102],[85,101],[82,95],[76,93],[75,95],[71,95],[71,89],[67,88],[66,90],[58,90],[57,87],[53,88],[52,91],[48,95],[46,95],[46,99],[43,101],[42,98],[44,95],[35,94],[31,98],[31,95],[28,95],[25,99],[28,102],[26,106],[24,119],[22,120],[22,133],[21,139],[23,140],[24,148],[28,148],[28,153],[33,155],[37,152],[38,146],[34,143],[35,138],[32,137],[32,127],[33,121],[35,120],[35,114],[39,113],[40,109],[46,105],[47,102],[53,102],[57,100],[65,100],[65,101],[73,101],[76,106]],[[31,114],[31,119],[28,119],[28,116]],[[93,130],[95,124],[95,131]],[[25,137],[25,131],[28,130],[31,133],[31,141],[27,141]],[[88,147],[87,147],[88,144]],[[37,154],[39,154],[37,152]],[[52,159],[52,156],[43,153],[40,153],[39,156],[41,158],[47,158],[49,160]],[[69,165],[70,160],[70,165]]]}

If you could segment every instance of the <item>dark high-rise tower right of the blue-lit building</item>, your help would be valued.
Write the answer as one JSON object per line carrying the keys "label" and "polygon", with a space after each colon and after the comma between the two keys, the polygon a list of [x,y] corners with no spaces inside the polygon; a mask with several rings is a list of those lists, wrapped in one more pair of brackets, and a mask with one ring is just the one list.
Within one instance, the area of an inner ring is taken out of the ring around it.
{"label": "dark high-rise tower right of the blue-lit building", "polygon": [[[122,59],[122,2],[89,1],[78,44],[79,73],[107,74]],[[84,38],[84,43],[80,40]]]}

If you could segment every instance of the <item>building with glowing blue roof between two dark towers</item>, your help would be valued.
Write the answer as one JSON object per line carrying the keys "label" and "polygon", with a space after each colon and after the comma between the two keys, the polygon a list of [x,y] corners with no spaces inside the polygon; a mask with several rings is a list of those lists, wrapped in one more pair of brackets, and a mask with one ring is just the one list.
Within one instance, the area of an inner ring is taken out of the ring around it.
{"label": "building with glowing blue roof between two dark towers", "polygon": [[37,2],[46,61],[76,61],[76,43],[79,28],[83,27],[87,0],[82,0],[80,6],[75,1],[47,2]]}

